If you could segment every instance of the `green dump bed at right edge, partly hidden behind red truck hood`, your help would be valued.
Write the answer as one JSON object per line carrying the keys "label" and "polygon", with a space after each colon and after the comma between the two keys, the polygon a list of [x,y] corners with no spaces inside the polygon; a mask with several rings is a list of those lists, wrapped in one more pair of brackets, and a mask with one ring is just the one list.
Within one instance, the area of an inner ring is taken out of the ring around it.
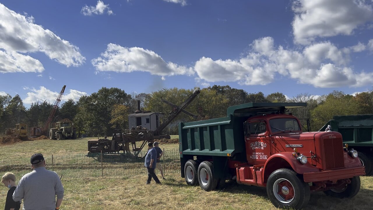
{"label": "green dump bed at right edge, partly hidden behind red truck hood", "polygon": [[341,133],[343,142],[350,146],[373,146],[373,114],[334,116],[320,131],[328,125]]}

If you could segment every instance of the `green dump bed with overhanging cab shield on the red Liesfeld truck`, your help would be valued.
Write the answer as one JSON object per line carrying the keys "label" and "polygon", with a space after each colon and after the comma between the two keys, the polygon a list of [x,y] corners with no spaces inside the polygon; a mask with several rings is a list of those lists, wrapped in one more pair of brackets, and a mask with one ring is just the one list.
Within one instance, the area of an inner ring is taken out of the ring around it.
{"label": "green dump bed with overhanging cab shield on the red Liesfeld truck", "polygon": [[[179,150],[183,155],[234,156],[245,152],[243,123],[251,116],[283,112],[306,103],[247,103],[230,106],[227,117],[179,124]],[[241,157],[244,157],[241,155]]]}

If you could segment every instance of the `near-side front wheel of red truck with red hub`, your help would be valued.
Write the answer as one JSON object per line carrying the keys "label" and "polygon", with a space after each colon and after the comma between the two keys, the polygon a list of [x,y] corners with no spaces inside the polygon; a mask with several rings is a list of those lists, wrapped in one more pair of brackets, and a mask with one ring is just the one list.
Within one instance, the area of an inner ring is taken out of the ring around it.
{"label": "near-side front wheel of red truck with red hub", "polygon": [[267,194],[276,207],[302,209],[310,200],[310,187],[294,171],[278,169],[268,177]]}

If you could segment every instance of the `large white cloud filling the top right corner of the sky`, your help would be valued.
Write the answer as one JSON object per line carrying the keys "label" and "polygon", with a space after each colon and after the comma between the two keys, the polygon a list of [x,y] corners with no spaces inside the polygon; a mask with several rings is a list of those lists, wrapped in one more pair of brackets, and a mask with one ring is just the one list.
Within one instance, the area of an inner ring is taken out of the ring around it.
{"label": "large white cloud filling the top right corner of the sky", "polygon": [[292,22],[294,41],[309,44],[316,37],[351,35],[373,20],[372,1],[294,0]]}

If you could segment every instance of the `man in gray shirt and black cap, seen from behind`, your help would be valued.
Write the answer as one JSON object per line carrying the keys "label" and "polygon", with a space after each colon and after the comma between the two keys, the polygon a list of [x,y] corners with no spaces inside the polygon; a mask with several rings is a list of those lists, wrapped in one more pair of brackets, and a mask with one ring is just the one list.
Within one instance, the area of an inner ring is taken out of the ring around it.
{"label": "man in gray shirt and black cap, seen from behind", "polygon": [[[45,168],[42,154],[31,156],[32,172],[19,180],[13,200],[23,199],[23,210],[58,210],[63,199],[63,186],[56,172]],[[57,201],[56,201],[57,195]]]}

